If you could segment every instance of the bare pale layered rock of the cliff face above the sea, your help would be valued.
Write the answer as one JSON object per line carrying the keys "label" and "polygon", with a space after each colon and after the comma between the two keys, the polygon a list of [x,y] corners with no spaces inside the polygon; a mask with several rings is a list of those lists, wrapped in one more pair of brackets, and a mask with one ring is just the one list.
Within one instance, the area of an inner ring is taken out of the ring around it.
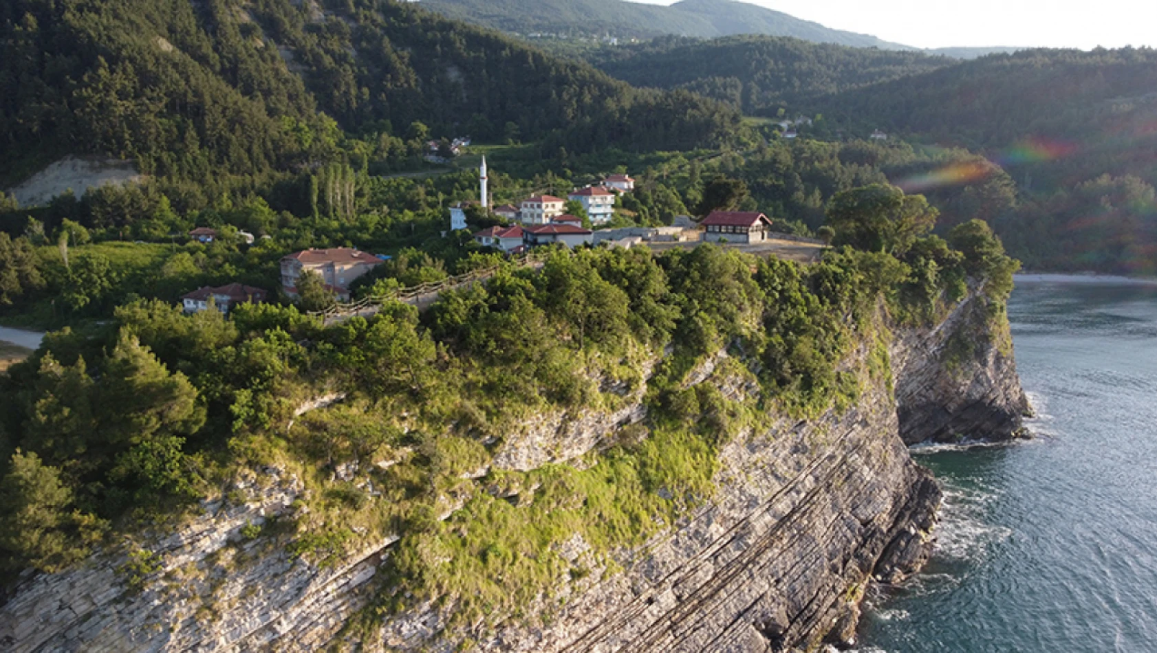
{"label": "bare pale layered rock of the cliff face above the sea", "polygon": [[[865,585],[904,579],[930,548],[939,489],[904,440],[1004,437],[1019,425],[1026,402],[1011,357],[998,337],[973,339],[990,331],[985,310],[968,300],[934,329],[897,333],[894,398],[880,376],[848,410],[778,418],[732,438],[710,500],[647,546],[617,554],[621,571],[560,578],[555,596],[529,606],[525,618],[473,635],[477,647],[762,652],[847,640]],[[958,334],[992,346],[964,348]],[[867,356],[868,346],[853,357]],[[750,376],[724,359],[708,361],[688,383],[715,384],[731,399],[754,392]],[[602,446],[619,425],[644,418],[641,398],[636,389],[603,416],[544,416],[494,463],[528,468]],[[126,547],[25,578],[0,606],[0,648],[312,651],[347,641],[455,650],[465,633],[447,630],[447,609],[434,603],[356,636],[344,630],[368,604],[395,540],[363,542],[323,567],[293,558],[274,537],[242,535],[246,525],[292,513],[302,491],[293,476],[264,470],[230,492],[233,504],[206,505],[178,532],[148,540],[150,556],[126,564],[134,549]],[[588,555],[577,537],[567,549],[575,559]]]}

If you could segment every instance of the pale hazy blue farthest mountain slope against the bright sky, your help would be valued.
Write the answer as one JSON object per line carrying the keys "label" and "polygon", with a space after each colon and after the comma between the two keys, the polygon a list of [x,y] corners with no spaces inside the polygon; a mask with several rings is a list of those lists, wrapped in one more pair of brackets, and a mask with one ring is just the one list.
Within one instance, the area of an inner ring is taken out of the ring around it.
{"label": "pale hazy blue farthest mountain slope against the bright sky", "polygon": [[766,34],[857,47],[911,50],[734,0],[681,0],[669,7],[624,0],[421,0],[421,3],[454,18],[523,35],[710,38]]}

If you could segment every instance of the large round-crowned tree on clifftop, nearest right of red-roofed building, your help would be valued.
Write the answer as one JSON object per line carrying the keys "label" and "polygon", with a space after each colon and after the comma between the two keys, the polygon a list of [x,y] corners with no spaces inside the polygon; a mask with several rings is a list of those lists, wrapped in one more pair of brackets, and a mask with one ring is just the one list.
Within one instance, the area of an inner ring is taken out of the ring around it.
{"label": "large round-crowned tree on clifftop, nearest right of red-roofed building", "polygon": [[837,193],[827,223],[837,245],[904,255],[916,238],[936,225],[937,212],[923,195],[905,195],[896,186],[874,184]]}

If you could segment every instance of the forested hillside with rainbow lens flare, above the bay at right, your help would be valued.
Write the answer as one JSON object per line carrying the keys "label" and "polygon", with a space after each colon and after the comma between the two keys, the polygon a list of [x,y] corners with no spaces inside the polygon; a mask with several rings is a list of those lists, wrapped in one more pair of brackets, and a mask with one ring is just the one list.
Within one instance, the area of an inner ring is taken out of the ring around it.
{"label": "forested hillside with rainbow lens flare, above the bay at right", "polygon": [[853,129],[983,153],[1019,188],[1018,206],[992,222],[1030,267],[1154,274],[1155,88],[1151,50],[1040,50],[837,94],[815,109]]}

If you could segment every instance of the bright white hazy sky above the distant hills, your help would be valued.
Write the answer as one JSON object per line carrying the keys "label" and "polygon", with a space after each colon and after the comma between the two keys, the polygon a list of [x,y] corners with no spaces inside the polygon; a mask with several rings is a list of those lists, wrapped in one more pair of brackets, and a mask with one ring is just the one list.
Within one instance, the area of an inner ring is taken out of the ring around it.
{"label": "bright white hazy sky above the distant hills", "polygon": [[[641,0],[670,5],[671,0]],[[1157,46],[1157,0],[747,0],[916,47]]]}

